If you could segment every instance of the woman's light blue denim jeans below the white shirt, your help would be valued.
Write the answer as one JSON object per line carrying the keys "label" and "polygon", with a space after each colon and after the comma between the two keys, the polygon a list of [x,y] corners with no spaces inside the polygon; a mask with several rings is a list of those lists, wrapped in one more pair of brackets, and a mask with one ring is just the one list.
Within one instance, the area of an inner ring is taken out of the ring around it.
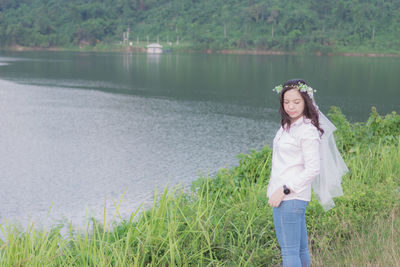
{"label": "woman's light blue denim jeans below the white shirt", "polygon": [[275,233],[282,252],[284,267],[310,266],[305,211],[308,201],[282,201],[273,208]]}

